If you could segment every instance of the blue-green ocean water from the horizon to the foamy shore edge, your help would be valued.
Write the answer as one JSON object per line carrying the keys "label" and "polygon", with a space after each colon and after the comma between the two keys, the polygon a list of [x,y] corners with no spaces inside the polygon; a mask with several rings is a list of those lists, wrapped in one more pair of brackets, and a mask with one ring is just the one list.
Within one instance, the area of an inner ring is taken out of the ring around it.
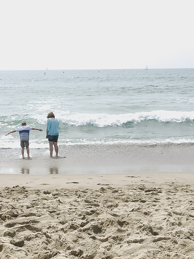
{"label": "blue-green ocean water from the horizon to the foamy shore edge", "polygon": [[59,121],[60,145],[194,143],[194,70],[0,71],[0,148],[48,148],[47,114]]}

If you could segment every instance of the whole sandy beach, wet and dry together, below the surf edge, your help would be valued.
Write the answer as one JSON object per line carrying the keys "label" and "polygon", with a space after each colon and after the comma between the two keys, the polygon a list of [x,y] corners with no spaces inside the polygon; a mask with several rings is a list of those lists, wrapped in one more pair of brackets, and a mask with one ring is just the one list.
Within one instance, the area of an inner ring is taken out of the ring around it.
{"label": "whole sandy beach, wet and dry together, below the surf edge", "polygon": [[192,145],[30,152],[1,158],[1,258],[194,258]]}

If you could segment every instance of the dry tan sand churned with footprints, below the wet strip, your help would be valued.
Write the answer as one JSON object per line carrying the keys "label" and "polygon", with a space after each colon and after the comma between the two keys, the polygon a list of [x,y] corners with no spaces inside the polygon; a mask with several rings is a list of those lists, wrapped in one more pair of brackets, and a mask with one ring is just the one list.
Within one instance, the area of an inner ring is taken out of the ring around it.
{"label": "dry tan sand churned with footprints, below the wet strip", "polygon": [[194,258],[192,173],[1,174],[0,258]]}

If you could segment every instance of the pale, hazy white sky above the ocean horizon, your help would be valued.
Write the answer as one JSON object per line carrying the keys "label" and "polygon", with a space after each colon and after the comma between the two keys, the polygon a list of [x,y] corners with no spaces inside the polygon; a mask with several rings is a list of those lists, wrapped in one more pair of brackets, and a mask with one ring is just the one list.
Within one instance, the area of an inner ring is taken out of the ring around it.
{"label": "pale, hazy white sky above the ocean horizon", "polygon": [[193,68],[192,0],[0,3],[0,70]]}

